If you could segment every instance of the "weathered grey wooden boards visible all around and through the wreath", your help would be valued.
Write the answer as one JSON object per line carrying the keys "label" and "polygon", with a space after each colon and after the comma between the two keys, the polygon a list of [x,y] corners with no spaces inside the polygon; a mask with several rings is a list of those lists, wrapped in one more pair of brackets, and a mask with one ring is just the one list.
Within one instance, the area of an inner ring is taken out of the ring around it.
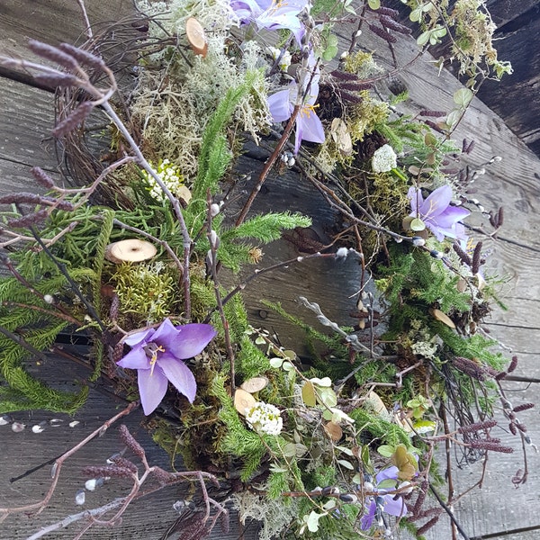
{"label": "weathered grey wooden boards visible all around and through the wreath", "polygon": [[[109,0],[106,3],[86,0],[85,4],[92,23],[118,21],[132,11],[127,0]],[[74,42],[81,38],[84,30],[85,25],[76,0],[4,0],[0,3],[0,54],[31,58],[25,49],[28,38],[52,44],[63,40]],[[385,51],[383,40],[369,36],[368,33],[363,35],[361,45],[366,49]],[[344,39],[349,36],[347,30],[343,31]],[[405,66],[416,52],[413,40],[400,38],[396,53],[401,66]],[[537,60],[537,56],[535,58]],[[384,65],[383,58],[381,62]],[[452,94],[459,88],[459,83],[451,74],[443,72],[437,77],[437,70],[428,56],[402,70],[397,77],[410,91],[410,100],[404,103],[404,110],[450,110]],[[508,85],[512,85],[510,79]],[[381,85],[379,90],[388,94],[385,85]],[[509,103],[500,101],[499,106],[505,110]],[[54,121],[53,111],[51,94],[29,85],[24,76],[0,72],[0,193],[35,190],[36,186],[29,174],[31,166],[41,166],[51,173],[58,170],[58,157],[49,136]],[[530,110],[531,115],[537,113],[538,109]],[[493,156],[503,157],[500,163],[487,166],[486,174],[479,176],[475,182],[478,193],[474,196],[486,209],[497,209],[502,205],[506,212],[505,224],[498,239],[491,239],[484,246],[491,251],[491,271],[509,277],[509,282],[502,286],[501,291],[502,300],[509,306],[509,311],[494,311],[485,329],[491,332],[491,336],[500,339],[508,352],[511,350],[518,355],[516,374],[537,378],[540,376],[536,364],[540,348],[540,280],[537,273],[540,253],[540,160],[509,130],[500,116],[478,100],[474,101],[455,134],[455,139],[460,137],[476,140],[476,148],[468,157],[473,168],[480,168]],[[254,156],[247,168],[257,171],[263,160],[264,157]],[[292,174],[270,177],[264,193],[257,198],[254,211],[279,210],[282,204],[290,205],[291,201],[297,204],[293,210],[311,213],[315,217],[321,214],[318,195],[312,192],[309,184]],[[329,214],[322,212],[322,215],[323,221],[331,219]],[[473,218],[477,226],[487,223],[486,217],[480,212],[476,212]],[[324,223],[318,222],[314,228],[322,229],[323,226]],[[265,266],[295,254],[294,247],[286,242],[276,242],[266,251],[263,261]],[[337,273],[340,273],[338,278]],[[349,306],[355,302],[350,296],[355,293],[356,279],[357,268],[353,264],[338,269],[325,261],[294,266],[287,273],[264,276],[250,285],[247,289],[247,307],[256,326],[276,330],[285,346],[289,343],[291,347],[298,347],[299,338],[288,335],[283,321],[267,312],[260,300],[281,301],[288,311],[308,318],[308,314],[299,309],[296,302],[296,298],[302,294],[312,302],[319,302],[330,317],[350,324],[347,313]],[[344,283],[347,283],[349,290],[343,287]],[[59,387],[73,385],[76,374],[70,371],[70,363],[54,357],[50,359],[49,368],[51,380]],[[513,391],[509,395],[514,405],[538,401],[536,384],[508,383],[508,386]],[[112,416],[115,407],[119,405],[100,392],[92,392],[85,409],[76,414],[75,419],[80,424],[74,428],[68,426],[70,419],[65,417],[58,428],[48,427],[40,434],[32,433],[30,428],[22,433],[14,433],[9,426],[0,427],[0,507],[39,500],[48,487],[49,467],[43,467],[18,482],[9,482],[9,479],[73,446],[101,425],[104,419]],[[537,414],[536,410],[530,410],[521,418],[527,424],[533,441],[539,443]],[[50,419],[50,415],[40,411],[17,413],[14,417],[29,427],[42,419]],[[166,467],[166,455],[148,439],[143,429],[138,428],[140,418],[138,413],[134,413],[128,419],[128,424],[146,440],[151,464]],[[504,423],[501,425],[504,426]],[[491,455],[484,487],[473,491],[455,505],[456,518],[471,539],[533,540],[540,535],[540,516],[536,511],[540,493],[539,457],[529,452],[529,480],[525,486],[516,490],[510,479],[520,466],[518,440],[503,429],[497,437],[502,438],[505,444],[514,446],[517,453]],[[84,483],[80,474],[81,467],[86,464],[103,464],[109,455],[120,448],[115,428],[86,446],[80,455],[69,462],[49,509],[38,518],[8,518],[0,524],[0,538],[26,538],[39,527],[79,511],[74,497],[76,490]],[[476,482],[478,473],[477,468],[455,472],[459,488],[464,489],[471,482]],[[110,482],[99,491],[87,493],[84,508],[104,504],[119,493],[121,485]],[[122,540],[159,538],[163,529],[175,519],[171,503],[175,497],[182,496],[182,493],[159,493],[152,500],[134,505],[121,527],[106,530],[95,528],[88,537]],[[48,537],[73,537],[74,530]],[[428,533],[428,538],[450,538],[448,530],[448,520],[442,518],[440,525]],[[239,535],[240,531],[233,523],[229,535],[215,533],[212,537],[232,539]],[[255,527],[248,528],[244,537],[254,538]]]}

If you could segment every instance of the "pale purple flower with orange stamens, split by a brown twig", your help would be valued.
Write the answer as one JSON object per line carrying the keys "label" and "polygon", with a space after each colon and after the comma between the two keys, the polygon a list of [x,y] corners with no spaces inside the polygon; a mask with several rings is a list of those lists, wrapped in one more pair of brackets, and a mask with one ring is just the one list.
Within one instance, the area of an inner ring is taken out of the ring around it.
{"label": "pale purple flower with orange stamens, split by a brown twig", "polygon": [[[311,52],[308,59],[308,69],[315,67],[315,58]],[[298,154],[300,143],[302,140],[310,142],[324,142],[324,128],[320,118],[315,112],[314,104],[319,95],[319,69],[316,69],[313,76],[310,73],[306,76],[306,83],[309,85],[309,91],[305,93],[305,88],[302,95],[306,94],[304,103],[300,106],[300,111],[296,115],[296,136],[294,139],[294,153]],[[280,90],[268,97],[268,108],[272,114],[272,120],[275,122],[286,121],[291,118],[294,107],[298,100],[299,85],[296,82],[291,83],[284,90]]]}

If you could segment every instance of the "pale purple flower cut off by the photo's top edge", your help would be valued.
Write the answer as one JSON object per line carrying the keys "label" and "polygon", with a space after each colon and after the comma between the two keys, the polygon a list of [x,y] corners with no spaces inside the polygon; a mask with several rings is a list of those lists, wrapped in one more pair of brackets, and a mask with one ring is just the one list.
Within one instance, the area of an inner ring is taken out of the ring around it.
{"label": "pale purple flower cut off by the photo's top edge", "polygon": [[240,23],[253,21],[259,29],[290,30],[300,45],[305,29],[298,18],[298,14],[306,7],[308,1],[232,0],[230,7],[237,14]]}

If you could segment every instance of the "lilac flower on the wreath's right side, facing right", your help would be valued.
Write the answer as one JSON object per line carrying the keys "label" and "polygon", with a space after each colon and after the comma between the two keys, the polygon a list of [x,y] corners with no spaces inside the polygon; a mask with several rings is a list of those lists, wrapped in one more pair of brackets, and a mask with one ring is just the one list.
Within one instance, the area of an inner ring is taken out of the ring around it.
{"label": "lilac flower on the wreath's right side, facing right", "polygon": [[410,217],[422,220],[439,242],[446,236],[466,239],[464,226],[458,221],[466,218],[471,212],[450,205],[452,188],[449,185],[437,187],[425,201],[419,188],[411,187],[408,197],[412,210]]}

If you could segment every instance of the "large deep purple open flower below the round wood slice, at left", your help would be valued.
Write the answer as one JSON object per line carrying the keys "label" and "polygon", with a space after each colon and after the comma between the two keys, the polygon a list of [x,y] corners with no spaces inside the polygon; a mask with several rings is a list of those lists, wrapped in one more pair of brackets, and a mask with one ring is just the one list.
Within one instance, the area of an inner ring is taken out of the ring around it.
{"label": "large deep purple open flower below the round wood slice, at left", "polygon": [[175,327],[166,319],[157,329],[142,330],[124,339],[131,350],[118,365],[137,370],[144,414],[156,410],[169,381],[193,402],[197,383],[183,360],[200,354],[215,335],[216,331],[209,324]]}

